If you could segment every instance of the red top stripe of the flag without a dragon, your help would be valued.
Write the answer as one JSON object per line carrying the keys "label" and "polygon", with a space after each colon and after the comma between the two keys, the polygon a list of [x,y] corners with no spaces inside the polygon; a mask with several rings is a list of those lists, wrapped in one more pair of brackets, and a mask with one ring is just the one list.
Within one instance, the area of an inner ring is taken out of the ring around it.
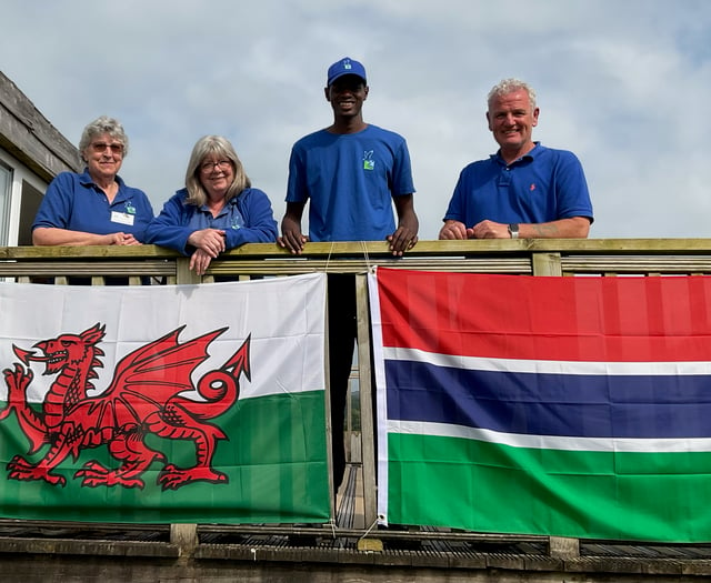
{"label": "red top stripe of the flag without a dragon", "polygon": [[711,361],[711,278],[378,269],[383,346],[590,362]]}

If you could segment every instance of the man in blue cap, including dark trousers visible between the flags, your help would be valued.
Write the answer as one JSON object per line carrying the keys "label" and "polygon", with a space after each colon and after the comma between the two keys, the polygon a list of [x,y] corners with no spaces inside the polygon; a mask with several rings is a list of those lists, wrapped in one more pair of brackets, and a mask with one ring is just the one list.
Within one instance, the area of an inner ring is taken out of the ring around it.
{"label": "man in blue cap, including dark trousers visible between the flags", "polygon": [[[294,254],[307,241],[389,241],[402,255],[418,241],[412,171],[405,140],[363,121],[365,68],[344,58],[328,70],[326,99],[333,123],[294,143],[289,161],[287,212],[279,244]],[[309,235],[301,232],[309,205]],[[392,212],[394,202],[398,223]],[[356,285],[350,274],[329,274],[329,364],[333,486],[343,479],[343,412],[356,342]]]}

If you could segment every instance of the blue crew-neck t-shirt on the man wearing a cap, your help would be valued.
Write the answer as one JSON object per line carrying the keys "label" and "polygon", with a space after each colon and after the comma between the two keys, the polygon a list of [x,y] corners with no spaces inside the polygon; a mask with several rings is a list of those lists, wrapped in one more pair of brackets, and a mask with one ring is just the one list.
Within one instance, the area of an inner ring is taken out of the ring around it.
{"label": "blue crew-neck t-shirt on the man wearing a cap", "polygon": [[413,192],[404,138],[377,125],[320,130],[291,150],[287,202],[310,199],[311,241],[382,241],[395,230],[392,197]]}

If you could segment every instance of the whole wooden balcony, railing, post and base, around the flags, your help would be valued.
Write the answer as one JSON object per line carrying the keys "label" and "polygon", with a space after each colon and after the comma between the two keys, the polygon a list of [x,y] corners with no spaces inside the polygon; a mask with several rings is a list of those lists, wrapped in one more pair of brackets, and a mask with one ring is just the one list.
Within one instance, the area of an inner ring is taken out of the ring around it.
{"label": "whole wooden balcony, railing, post and base, around the flags", "polygon": [[[319,271],[360,274],[359,365],[353,374],[360,426],[349,425],[350,463],[333,520],[319,526],[4,521],[0,522],[0,564],[7,576],[48,581],[53,579],[42,570],[56,569],[71,581],[661,582],[711,577],[711,549],[705,545],[424,527],[378,531],[364,278],[375,265],[542,277],[700,275],[711,273],[711,239],[422,241],[404,258],[392,257],[384,242],[309,243],[299,257],[274,244],[250,244],[224,253],[202,278],[189,270],[188,262],[153,245],[0,248],[0,278],[67,284],[80,277],[102,285],[107,278],[120,277],[140,285]],[[86,579],[79,579],[82,573]]]}

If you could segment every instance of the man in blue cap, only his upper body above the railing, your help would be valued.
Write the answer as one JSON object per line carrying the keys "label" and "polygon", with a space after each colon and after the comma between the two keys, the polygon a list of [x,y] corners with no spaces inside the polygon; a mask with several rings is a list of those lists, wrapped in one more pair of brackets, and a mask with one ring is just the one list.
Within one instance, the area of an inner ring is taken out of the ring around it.
{"label": "man in blue cap, only his upper body above the railing", "polygon": [[[307,241],[387,239],[392,253],[402,255],[417,242],[408,145],[401,135],[363,121],[365,79],[365,69],[353,59],[333,63],[326,88],[333,123],[293,145],[280,240],[292,253],[300,253]],[[308,200],[307,238],[301,217]]]}

